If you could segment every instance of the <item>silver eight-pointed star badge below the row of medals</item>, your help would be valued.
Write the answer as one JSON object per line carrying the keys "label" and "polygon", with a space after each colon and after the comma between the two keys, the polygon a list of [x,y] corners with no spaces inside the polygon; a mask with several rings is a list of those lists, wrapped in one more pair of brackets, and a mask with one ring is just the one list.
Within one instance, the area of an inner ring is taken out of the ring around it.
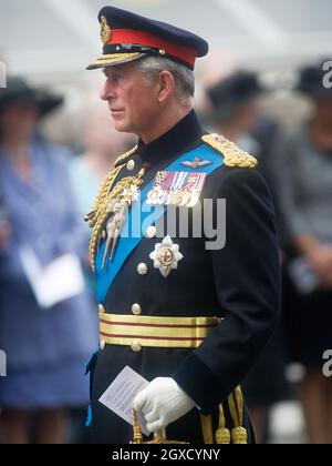
{"label": "silver eight-pointed star badge below the row of medals", "polygon": [[154,267],[159,269],[162,275],[167,278],[184,256],[179,252],[178,244],[174,244],[170,236],[166,236],[163,243],[155,245],[155,251],[149,254],[149,259],[154,261]]}

